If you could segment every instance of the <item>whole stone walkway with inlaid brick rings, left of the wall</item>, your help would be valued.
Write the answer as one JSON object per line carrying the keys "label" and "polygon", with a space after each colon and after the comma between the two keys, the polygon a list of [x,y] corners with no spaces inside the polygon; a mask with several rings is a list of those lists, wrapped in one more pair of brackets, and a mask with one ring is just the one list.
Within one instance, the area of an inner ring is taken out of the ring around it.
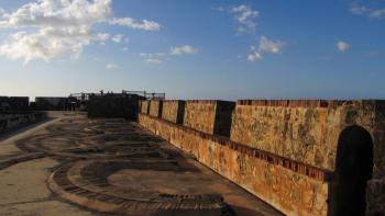
{"label": "whole stone walkway with inlaid brick rings, left of the wall", "polygon": [[0,141],[0,215],[280,215],[122,120],[62,116]]}

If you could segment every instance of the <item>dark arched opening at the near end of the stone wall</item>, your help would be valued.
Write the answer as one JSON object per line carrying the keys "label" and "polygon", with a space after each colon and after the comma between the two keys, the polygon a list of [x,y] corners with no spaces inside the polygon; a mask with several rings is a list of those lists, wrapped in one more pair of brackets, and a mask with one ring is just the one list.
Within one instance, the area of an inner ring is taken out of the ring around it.
{"label": "dark arched opening at the near end of the stone wall", "polygon": [[329,190],[329,215],[365,215],[366,182],[372,172],[371,135],[360,126],[346,127],[338,141],[336,174]]}

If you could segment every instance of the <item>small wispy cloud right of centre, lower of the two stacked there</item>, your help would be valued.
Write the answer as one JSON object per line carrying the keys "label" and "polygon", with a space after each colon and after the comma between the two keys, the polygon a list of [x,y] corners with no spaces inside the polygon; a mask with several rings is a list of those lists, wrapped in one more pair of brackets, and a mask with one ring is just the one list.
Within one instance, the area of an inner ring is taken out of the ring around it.
{"label": "small wispy cloud right of centre, lower of the two stacked there", "polygon": [[271,41],[266,36],[261,36],[258,47],[251,46],[251,53],[248,56],[248,60],[257,61],[263,59],[263,53],[280,54],[285,46],[285,42]]}

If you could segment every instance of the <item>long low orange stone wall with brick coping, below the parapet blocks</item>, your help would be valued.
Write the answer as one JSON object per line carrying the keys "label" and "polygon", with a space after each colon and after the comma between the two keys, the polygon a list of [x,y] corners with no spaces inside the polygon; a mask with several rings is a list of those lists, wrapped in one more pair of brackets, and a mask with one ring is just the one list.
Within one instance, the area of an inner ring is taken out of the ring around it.
{"label": "long low orange stone wall with brick coping, below the parapet blocks", "polygon": [[326,215],[328,172],[140,114],[141,125],[288,215]]}

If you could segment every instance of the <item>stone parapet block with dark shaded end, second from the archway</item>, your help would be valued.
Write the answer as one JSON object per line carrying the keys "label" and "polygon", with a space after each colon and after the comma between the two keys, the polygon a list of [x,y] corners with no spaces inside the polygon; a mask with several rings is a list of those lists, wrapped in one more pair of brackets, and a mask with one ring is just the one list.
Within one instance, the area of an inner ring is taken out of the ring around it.
{"label": "stone parapet block with dark shaded end, second from the archway", "polygon": [[187,101],[184,125],[199,132],[230,135],[234,103],[227,101]]}

